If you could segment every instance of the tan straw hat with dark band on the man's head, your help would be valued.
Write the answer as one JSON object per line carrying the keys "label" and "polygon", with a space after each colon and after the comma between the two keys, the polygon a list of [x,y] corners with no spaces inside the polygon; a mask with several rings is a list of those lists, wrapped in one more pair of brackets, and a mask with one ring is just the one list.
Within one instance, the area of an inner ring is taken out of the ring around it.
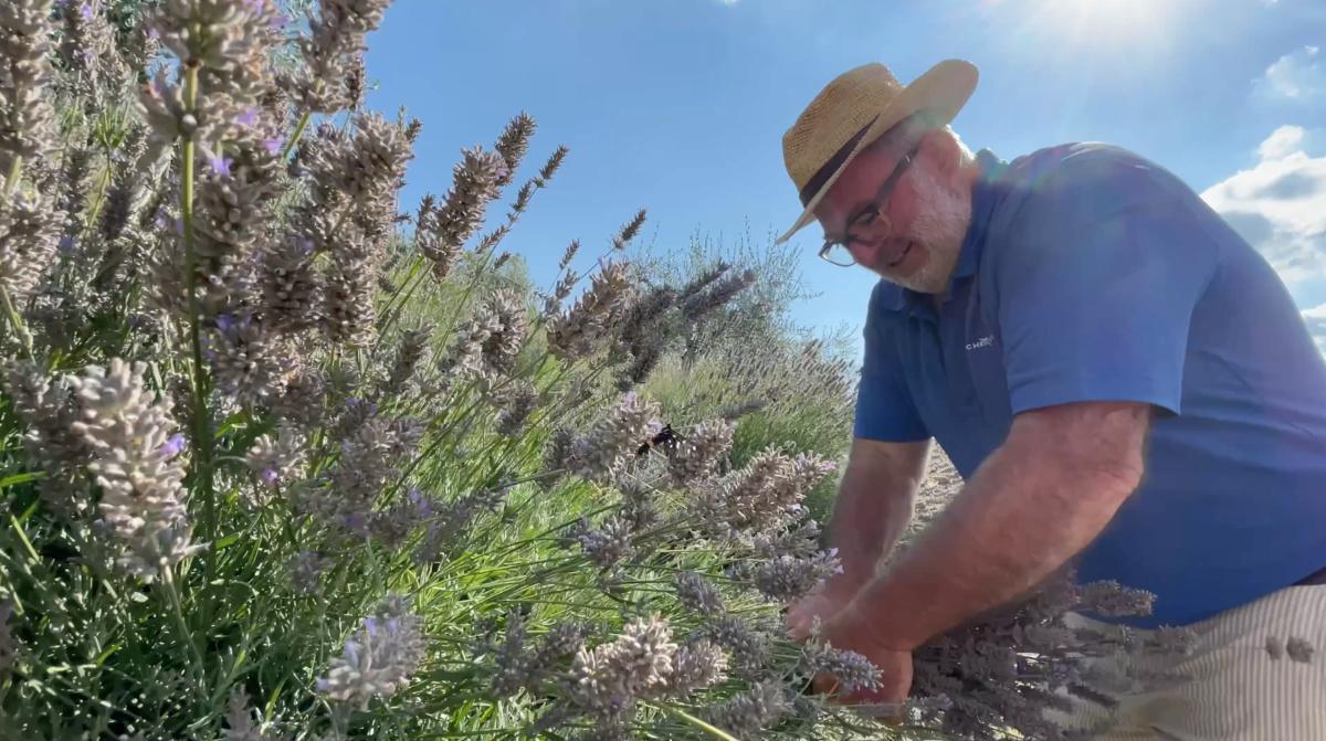
{"label": "tan straw hat with dark band on the man's head", "polygon": [[888,68],[867,64],[835,77],[782,135],[782,159],[805,211],[774,244],[814,221],[814,208],[861,150],[898,122],[928,110],[934,126],[945,126],[976,89],[971,62],[945,60],[911,85]]}

